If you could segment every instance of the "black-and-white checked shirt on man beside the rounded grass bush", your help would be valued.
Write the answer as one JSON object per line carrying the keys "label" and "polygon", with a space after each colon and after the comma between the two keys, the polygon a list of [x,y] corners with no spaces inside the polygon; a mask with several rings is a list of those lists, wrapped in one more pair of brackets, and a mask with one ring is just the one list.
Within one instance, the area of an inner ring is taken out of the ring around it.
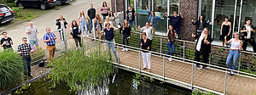
{"label": "black-and-white checked shirt on man beside the rounded grass bush", "polygon": [[32,50],[30,44],[20,44],[18,46],[18,52],[21,52],[20,55],[21,57],[29,57],[30,56],[30,51]]}

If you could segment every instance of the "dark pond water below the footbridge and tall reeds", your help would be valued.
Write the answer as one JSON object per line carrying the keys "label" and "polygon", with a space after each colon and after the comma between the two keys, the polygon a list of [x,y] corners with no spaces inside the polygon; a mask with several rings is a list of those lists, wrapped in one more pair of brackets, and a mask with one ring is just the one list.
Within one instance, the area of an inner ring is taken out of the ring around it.
{"label": "dark pond water below the footbridge and tall reeds", "polygon": [[[144,77],[144,76],[142,76]],[[138,83],[138,81],[140,81]],[[137,80],[136,74],[125,70],[118,70],[114,75],[109,76],[100,86],[89,88],[89,90],[70,92],[65,83],[50,88],[52,82],[47,76],[33,81],[31,86],[22,90],[25,95],[191,95],[189,89],[176,87],[157,80]],[[15,91],[12,92],[15,94]]]}

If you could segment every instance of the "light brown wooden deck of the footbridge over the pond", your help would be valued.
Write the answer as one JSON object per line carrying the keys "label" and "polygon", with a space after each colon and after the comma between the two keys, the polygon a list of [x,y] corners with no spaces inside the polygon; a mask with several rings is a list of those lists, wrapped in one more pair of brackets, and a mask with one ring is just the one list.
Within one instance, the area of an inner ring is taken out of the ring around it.
{"label": "light brown wooden deck of the footbridge over the pond", "polygon": [[[119,64],[139,69],[139,53],[135,51],[122,52],[119,48]],[[117,50],[117,49],[116,49]],[[117,52],[118,53],[118,52]],[[141,56],[141,68],[143,59]],[[191,64],[165,59],[165,77],[185,83],[191,83]],[[148,70],[144,70],[148,71]],[[163,58],[151,55],[151,72],[155,75],[163,75]],[[203,87],[215,92],[224,92],[225,73],[223,71],[194,68],[193,85]],[[255,95],[256,79],[243,77],[241,75],[227,76],[226,94],[231,95]]]}

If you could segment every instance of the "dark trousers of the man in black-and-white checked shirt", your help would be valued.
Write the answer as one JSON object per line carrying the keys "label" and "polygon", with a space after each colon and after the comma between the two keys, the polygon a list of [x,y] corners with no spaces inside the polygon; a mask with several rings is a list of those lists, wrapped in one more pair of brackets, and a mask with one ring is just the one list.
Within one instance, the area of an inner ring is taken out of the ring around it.
{"label": "dark trousers of the man in black-and-white checked shirt", "polygon": [[24,60],[24,75],[32,76],[31,75],[31,57],[23,58]]}

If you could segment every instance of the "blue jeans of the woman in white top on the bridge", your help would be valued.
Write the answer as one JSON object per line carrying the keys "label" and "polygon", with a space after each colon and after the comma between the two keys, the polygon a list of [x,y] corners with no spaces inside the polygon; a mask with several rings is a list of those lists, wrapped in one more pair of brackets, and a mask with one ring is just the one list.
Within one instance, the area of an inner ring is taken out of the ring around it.
{"label": "blue jeans of the woman in white top on the bridge", "polygon": [[[226,61],[226,64],[228,65],[228,68],[230,70],[236,70],[236,62],[239,59],[239,57],[240,57],[239,51],[230,50],[230,54],[229,54],[229,56],[227,58],[227,61]],[[233,68],[230,64],[232,59],[233,59]]]}

